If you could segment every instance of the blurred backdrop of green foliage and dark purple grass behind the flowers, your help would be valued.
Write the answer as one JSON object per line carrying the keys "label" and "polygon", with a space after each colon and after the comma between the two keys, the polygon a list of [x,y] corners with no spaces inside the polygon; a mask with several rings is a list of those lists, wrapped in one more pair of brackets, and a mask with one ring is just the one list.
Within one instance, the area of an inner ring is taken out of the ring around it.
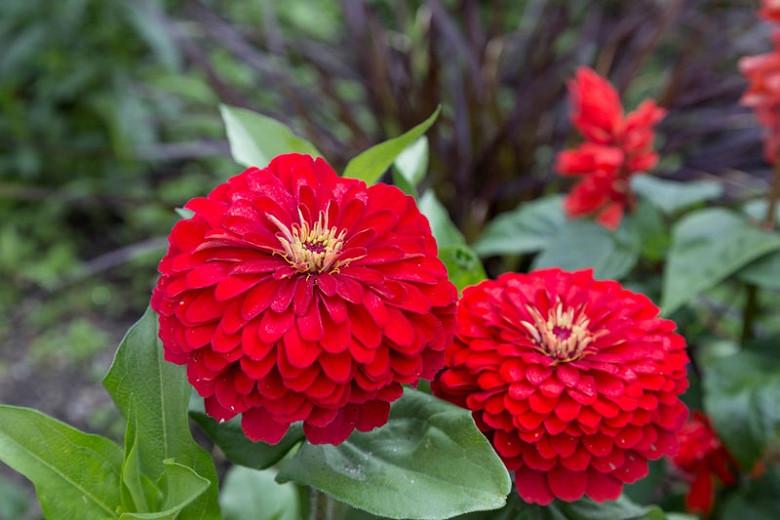
{"label": "blurred backdrop of green foliage and dark purple grass behind the flowers", "polygon": [[[119,433],[99,381],[174,208],[239,171],[219,103],[287,123],[337,168],[441,103],[426,183],[473,239],[561,188],[566,80],[587,64],[629,108],[669,110],[657,174],[764,191],[760,130],[737,104],[738,58],[770,48],[757,4],[0,1],[0,402]],[[0,471],[0,518],[22,518]]]}

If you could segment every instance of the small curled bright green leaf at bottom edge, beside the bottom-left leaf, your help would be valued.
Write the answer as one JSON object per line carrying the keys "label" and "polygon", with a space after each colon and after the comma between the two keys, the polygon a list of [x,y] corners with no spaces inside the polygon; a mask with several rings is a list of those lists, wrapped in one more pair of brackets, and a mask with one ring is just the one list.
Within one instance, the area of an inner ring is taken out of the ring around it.
{"label": "small curled bright green leaf at bottom edge, beside the bottom-left leaf", "polygon": [[[177,520],[185,518],[184,508],[192,504],[208,490],[211,481],[195,473],[192,468],[177,464],[172,459],[163,461],[163,473],[157,487],[162,490],[163,501],[158,512],[123,513],[120,520]],[[211,516],[207,518],[218,518]]]}

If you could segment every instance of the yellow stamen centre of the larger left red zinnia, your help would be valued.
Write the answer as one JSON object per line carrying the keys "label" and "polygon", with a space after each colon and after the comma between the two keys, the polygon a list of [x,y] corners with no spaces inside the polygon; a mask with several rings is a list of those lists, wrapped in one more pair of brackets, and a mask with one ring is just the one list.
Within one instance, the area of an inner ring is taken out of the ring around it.
{"label": "yellow stamen centre of the larger left red zinnia", "polygon": [[299,223],[287,226],[273,215],[268,220],[279,229],[276,238],[282,246],[276,251],[300,273],[329,273],[337,271],[345,262],[339,262],[347,231],[328,225],[328,208],[320,211],[317,221],[310,225],[298,210]]}

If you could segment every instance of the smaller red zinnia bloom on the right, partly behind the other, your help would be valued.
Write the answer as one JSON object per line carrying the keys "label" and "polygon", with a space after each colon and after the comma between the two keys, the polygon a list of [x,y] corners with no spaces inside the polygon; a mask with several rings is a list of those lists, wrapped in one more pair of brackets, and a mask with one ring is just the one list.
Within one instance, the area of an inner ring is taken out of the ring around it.
{"label": "smaller red zinnia bloom on the right, partly behind the other", "polygon": [[685,421],[674,330],[590,271],[505,274],[464,290],[434,392],[472,410],[527,502],[615,499]]}

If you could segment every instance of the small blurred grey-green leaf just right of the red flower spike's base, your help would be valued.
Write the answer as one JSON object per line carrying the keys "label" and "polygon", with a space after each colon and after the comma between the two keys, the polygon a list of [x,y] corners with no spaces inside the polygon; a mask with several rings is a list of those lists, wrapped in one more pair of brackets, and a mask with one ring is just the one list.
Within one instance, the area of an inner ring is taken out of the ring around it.
{"label": "small blurred grey-green leaf just right of the red flower spike's base", "polygon": [[719,182],[674,182],[652,175],[637,175],[631,181],[631,187],[669,215],[723,195],[723,186]]}

